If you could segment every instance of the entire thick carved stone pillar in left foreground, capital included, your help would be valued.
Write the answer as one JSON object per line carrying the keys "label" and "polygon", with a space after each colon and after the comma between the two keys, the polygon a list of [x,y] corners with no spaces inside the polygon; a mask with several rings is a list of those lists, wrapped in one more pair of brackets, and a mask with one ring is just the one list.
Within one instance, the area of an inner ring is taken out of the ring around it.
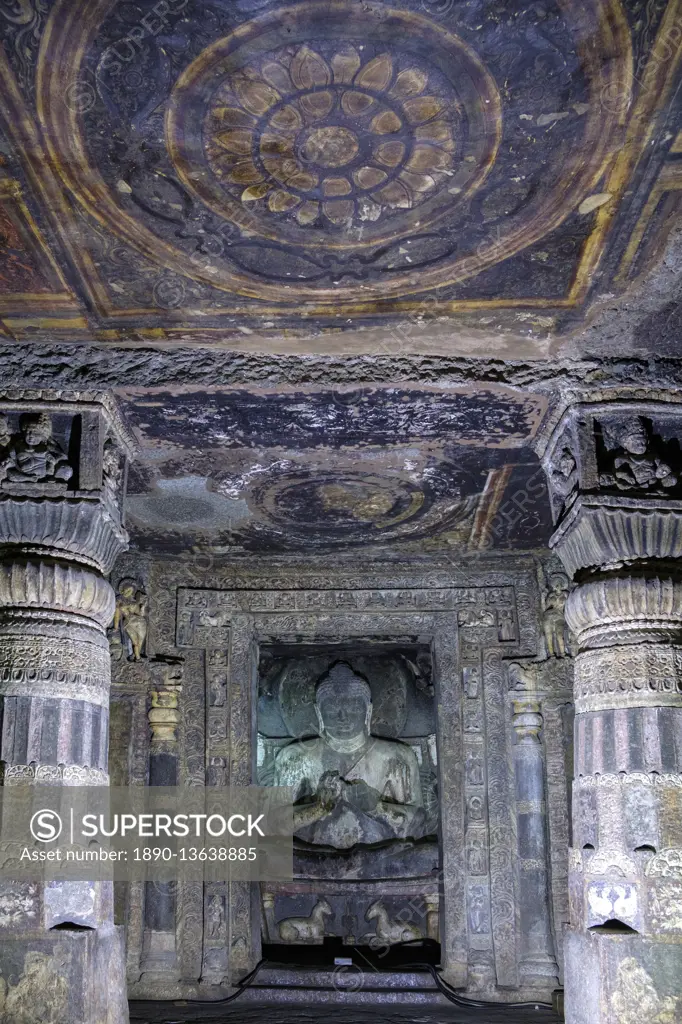
{"label": "entire thick carved stone pillar in left foreground, capital included", "polygon": [[[115,599],[104,575],[127,546],[130,451],[105,401],[26,392],[0,400],[4,785],[109,784],[105,629]],[[27,1024],[128,1019],[111,884],[0,881],[0,1016]]]}

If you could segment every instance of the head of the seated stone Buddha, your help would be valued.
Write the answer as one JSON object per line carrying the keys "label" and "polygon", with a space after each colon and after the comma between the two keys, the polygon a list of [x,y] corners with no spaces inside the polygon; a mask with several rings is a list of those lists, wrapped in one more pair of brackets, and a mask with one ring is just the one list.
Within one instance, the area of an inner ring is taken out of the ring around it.
{"label": "head of the seated stone Buddha", "polygon": [[370,684],[349,665],[339,662],[317,683],[315,712],[321,735],[332,746],[357,745],[370,735]]}

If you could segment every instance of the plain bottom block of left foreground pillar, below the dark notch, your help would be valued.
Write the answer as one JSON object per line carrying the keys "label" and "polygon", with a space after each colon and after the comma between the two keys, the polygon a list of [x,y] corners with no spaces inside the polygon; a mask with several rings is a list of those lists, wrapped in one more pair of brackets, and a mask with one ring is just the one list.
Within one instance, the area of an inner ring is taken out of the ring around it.
{"label": "plain bottom block of left foreground pillar, below the dark notch", "polygon": [[0,940],[0,1021],[128,1024],[121,927],[56,928]]}

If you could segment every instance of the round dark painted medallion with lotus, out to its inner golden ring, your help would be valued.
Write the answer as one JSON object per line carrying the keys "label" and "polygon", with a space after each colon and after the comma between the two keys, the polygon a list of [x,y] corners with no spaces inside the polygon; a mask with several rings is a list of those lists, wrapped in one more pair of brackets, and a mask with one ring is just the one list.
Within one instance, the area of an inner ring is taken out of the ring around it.
{"label": "round dark painted medallion with lotus, out to its inner golden ring", "polygon": [[[414,17],[392,13],[409,33]],[[500,143],[494,79],[444,31],[427,59],[375,43],[381,22],[368,30],[366,43],[332,33],[254,56],[227,37],[201,53],[167,119],[183,183],[226,219],[243,223],[246,208],[250,231],[353,248],[404,232],[411,211],[423,229],[471,195]]]}

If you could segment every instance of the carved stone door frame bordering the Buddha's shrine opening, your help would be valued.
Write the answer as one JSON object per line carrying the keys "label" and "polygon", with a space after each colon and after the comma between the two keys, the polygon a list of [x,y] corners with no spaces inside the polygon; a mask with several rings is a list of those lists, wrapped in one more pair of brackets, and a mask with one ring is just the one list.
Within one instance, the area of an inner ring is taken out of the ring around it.
{"label": "carved stone door frame bordering the Buddha's shrine opening", "polygon": [[[244,590],[228,589],[227,580],[224,589],[180,587],[175,643],[195,665],[185,671],[184,781],[204,784],[212,762],[223,761],[223,778],[233,785],[253,784],[256,777],[261,644],[356,639],[430,645],[441,809],[442,963],[453,984],[466,985],[471,950],[478,950],[493,962],[498,985],[514,987],[514,800],[503,657],[535,653],[535,616],[530,573],[522,596],[518,573],[495,573],[495,586],[486,586],[491,575],[478,586],[399,590]],[[211,682],[221,685],[216,674],[224,679],[225,697],[211,707]],[[472,843],[489,849],[484,870],[478,862],[475,873],[469,870]],[[230,883],[226,895],[221,941],[235,981],[259,958],[260,912],[256,886]],[[195,984],[200,976],[218,982],[225,973],[224,958],[211,952],[205,898],[199,886],[179,892],[178,959],[183,979]]]}

